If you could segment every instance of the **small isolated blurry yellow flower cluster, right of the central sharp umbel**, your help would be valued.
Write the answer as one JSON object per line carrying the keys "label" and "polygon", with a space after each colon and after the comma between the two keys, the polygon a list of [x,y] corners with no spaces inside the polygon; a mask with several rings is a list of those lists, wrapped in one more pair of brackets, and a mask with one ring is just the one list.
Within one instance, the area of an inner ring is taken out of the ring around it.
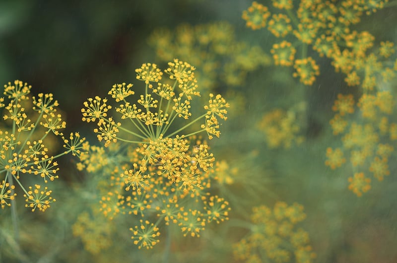
{"label": "small isolated blurry yellow flower cluster, right of the central sharp umbel", "polygon": [[290,148],[293,143],[301,143],[304,139],[299,135],[300,126],[297,124],[294,111],[275,109],[264,115],[258,123],[258,128],[264,132],[265,140],[269,147],[283,146]]}

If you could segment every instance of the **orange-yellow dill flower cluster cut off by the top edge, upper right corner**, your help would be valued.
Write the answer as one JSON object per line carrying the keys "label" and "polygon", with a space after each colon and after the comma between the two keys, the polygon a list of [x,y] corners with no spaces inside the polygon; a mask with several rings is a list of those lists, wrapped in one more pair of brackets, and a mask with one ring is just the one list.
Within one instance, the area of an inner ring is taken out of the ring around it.
{"label": "orange-yellow dill flower cluster cut off by the top edge, upper right corner", "polygon": [[320,57],[331,59],[336,71],[346,74],[345,81],[349,86],[361,85],[372,90],[377,82],[395,76],[390,62],[381,62],[395,53],[394,44],[381,42],[378,50],[369,53],[374,36],[368,31],[351,30],[351,26],[360,22],[364,13],[376,12],[386,2],[388,0],[300,0],[294,13],[291,0],[273,0],[272,12],[270,6],[254,1],[243,11],[242,17],[247,21],[247,27],[259,29],[267,24],[267,29],[275,37],[284,38],[291,34],[302,42],[299,59],[295,59],[295,49],[286,40],[275,44],[271,53],[275,65],[294,66],[293,76],[300,77],[300,82],[305,85],[312,85],[320,74],[319,66],[307,55],[308,45],[312,45]]}

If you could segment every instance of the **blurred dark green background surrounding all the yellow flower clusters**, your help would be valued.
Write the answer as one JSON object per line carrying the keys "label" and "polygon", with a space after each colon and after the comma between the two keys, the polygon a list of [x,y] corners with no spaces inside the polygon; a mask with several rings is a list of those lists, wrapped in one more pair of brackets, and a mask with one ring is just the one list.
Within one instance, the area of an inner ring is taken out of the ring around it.
{"label": "blurred dark green background surrounding all the yellow flower clusters", "polygon": [[[289,68],[272,65],[269,50],[274,36],[267,30],[252,31],[241,18],[251,3],[0,1],[0,83],[20,79],[32,85],[34,94],[53,93],[66,114],[67,130],[78,131],[98,144],[92,126],[81,122],[83,102],[88,97],[109,96],[107,92],[115,83],[134,83],[134,69],[142,63],[165,65],[149,45],[155,30],[168,28],[173,32],[183,23],[196,26],[226,21],[234,28],[236,42],[259,46],[265,53],[263,63],[247,70],[243,83],[228,85],[216,78],[213,87],[231,104],[221,138],[211,141],[216,159],[225,160],[228,173],[238,178],[239,184],[219,190],[230,199],[230,217],[248,220],[253,206],[273,207],[280,200],[298,202],[307,215],[301,226],[309,233],[317,254],[313,262],[397,262],[396,152],[390,157],[390,176],[384,182],[373,180],[371,191],[363,197],[348,190],[350,168],[332,170],[325,165],[326,149],[341,144],[329,125],[337,94],[360,96],[362,90],[348,87],[345,76],[335,72],[327,58],[316,57],[321,74],[311,86],[299,83]],[[364,15],[353,28],[370,31],[377,45],[380,41],[396,42],[396,13],[391,4]],[[226,64],[227,58],[220,61],[220,65]],[[388,85],[396,94],[396,80]],[[269,147],[260,122],[275,108],[293,113],[303,142]],[[394,113],[391,120],[396,120]],[[208,227],[199,240],[174,234],[170,247],[162,241],[146,251],[133,247],[127,217],[112,226],[99,216],[93,217],[92,228],[109,230],[104,235],[108,234],[113,245],[96,254],[84,250],[81,240],[72,235],[71,225],[92,205],[87,201],[94,191],[92,178],[78,171],[75,161],[64,158],[61,164],[65,168],[54,191],[58,201],[51,209],[45,214],[18,209],[20,247],[12,242],[7,210],[0,210],[0,262],[239,262],[233,258],[232,244],[244,237],[246,230],[239,229],[233,220]],[[18,256],[15,251],[19,250],[23,252]]]}

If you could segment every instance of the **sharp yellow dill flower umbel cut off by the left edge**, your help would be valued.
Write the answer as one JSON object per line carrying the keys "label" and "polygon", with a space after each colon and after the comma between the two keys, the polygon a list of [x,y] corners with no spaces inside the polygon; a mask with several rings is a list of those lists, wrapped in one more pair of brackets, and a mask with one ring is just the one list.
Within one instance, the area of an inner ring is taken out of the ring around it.
{"label": "sharp yellow dill flower umbel cut off by the left edge", "polygon": [[[15,185],[19,185],[25,206],[32,211],[44,211],[55,201],[50,197],[52,191],[40,184],[26,189],[21,177],[33,174],[39,175],[44,183],[54,181],[59,171],[55,160],[67,153],[83,155],[82,148],[87,143],[77,132],[69,138],[60,132],[66,128],[66,122],[57,113],[58,101],[53,94],[39,93],[30,98],[30,89],[27,83],[15,80],[4,85],[5,97],[0,97],[4,120],[0,127],[0,204],[1,208],[10,206],[16,196]],[[53,156],[48,145],[54,150],[57,136],[65,142],[65,151]]]}

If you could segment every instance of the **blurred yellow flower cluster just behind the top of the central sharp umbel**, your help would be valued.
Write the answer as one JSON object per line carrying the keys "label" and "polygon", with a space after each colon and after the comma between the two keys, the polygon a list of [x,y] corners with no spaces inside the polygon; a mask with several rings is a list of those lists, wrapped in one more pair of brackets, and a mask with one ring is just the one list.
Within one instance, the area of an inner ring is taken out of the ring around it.
{"label": "blurred yellow flower cluster just behind the top of the central sharp umbel", "polygon": [[163,62],[180,58],[195,65],[201,90],[207,91],[220,81],[229,86],[242,85],[247,72],[271,63],[259,46],[238,41],[227,22],[182,24],[172,31],[157,29],[149,37],[149,44]]}

